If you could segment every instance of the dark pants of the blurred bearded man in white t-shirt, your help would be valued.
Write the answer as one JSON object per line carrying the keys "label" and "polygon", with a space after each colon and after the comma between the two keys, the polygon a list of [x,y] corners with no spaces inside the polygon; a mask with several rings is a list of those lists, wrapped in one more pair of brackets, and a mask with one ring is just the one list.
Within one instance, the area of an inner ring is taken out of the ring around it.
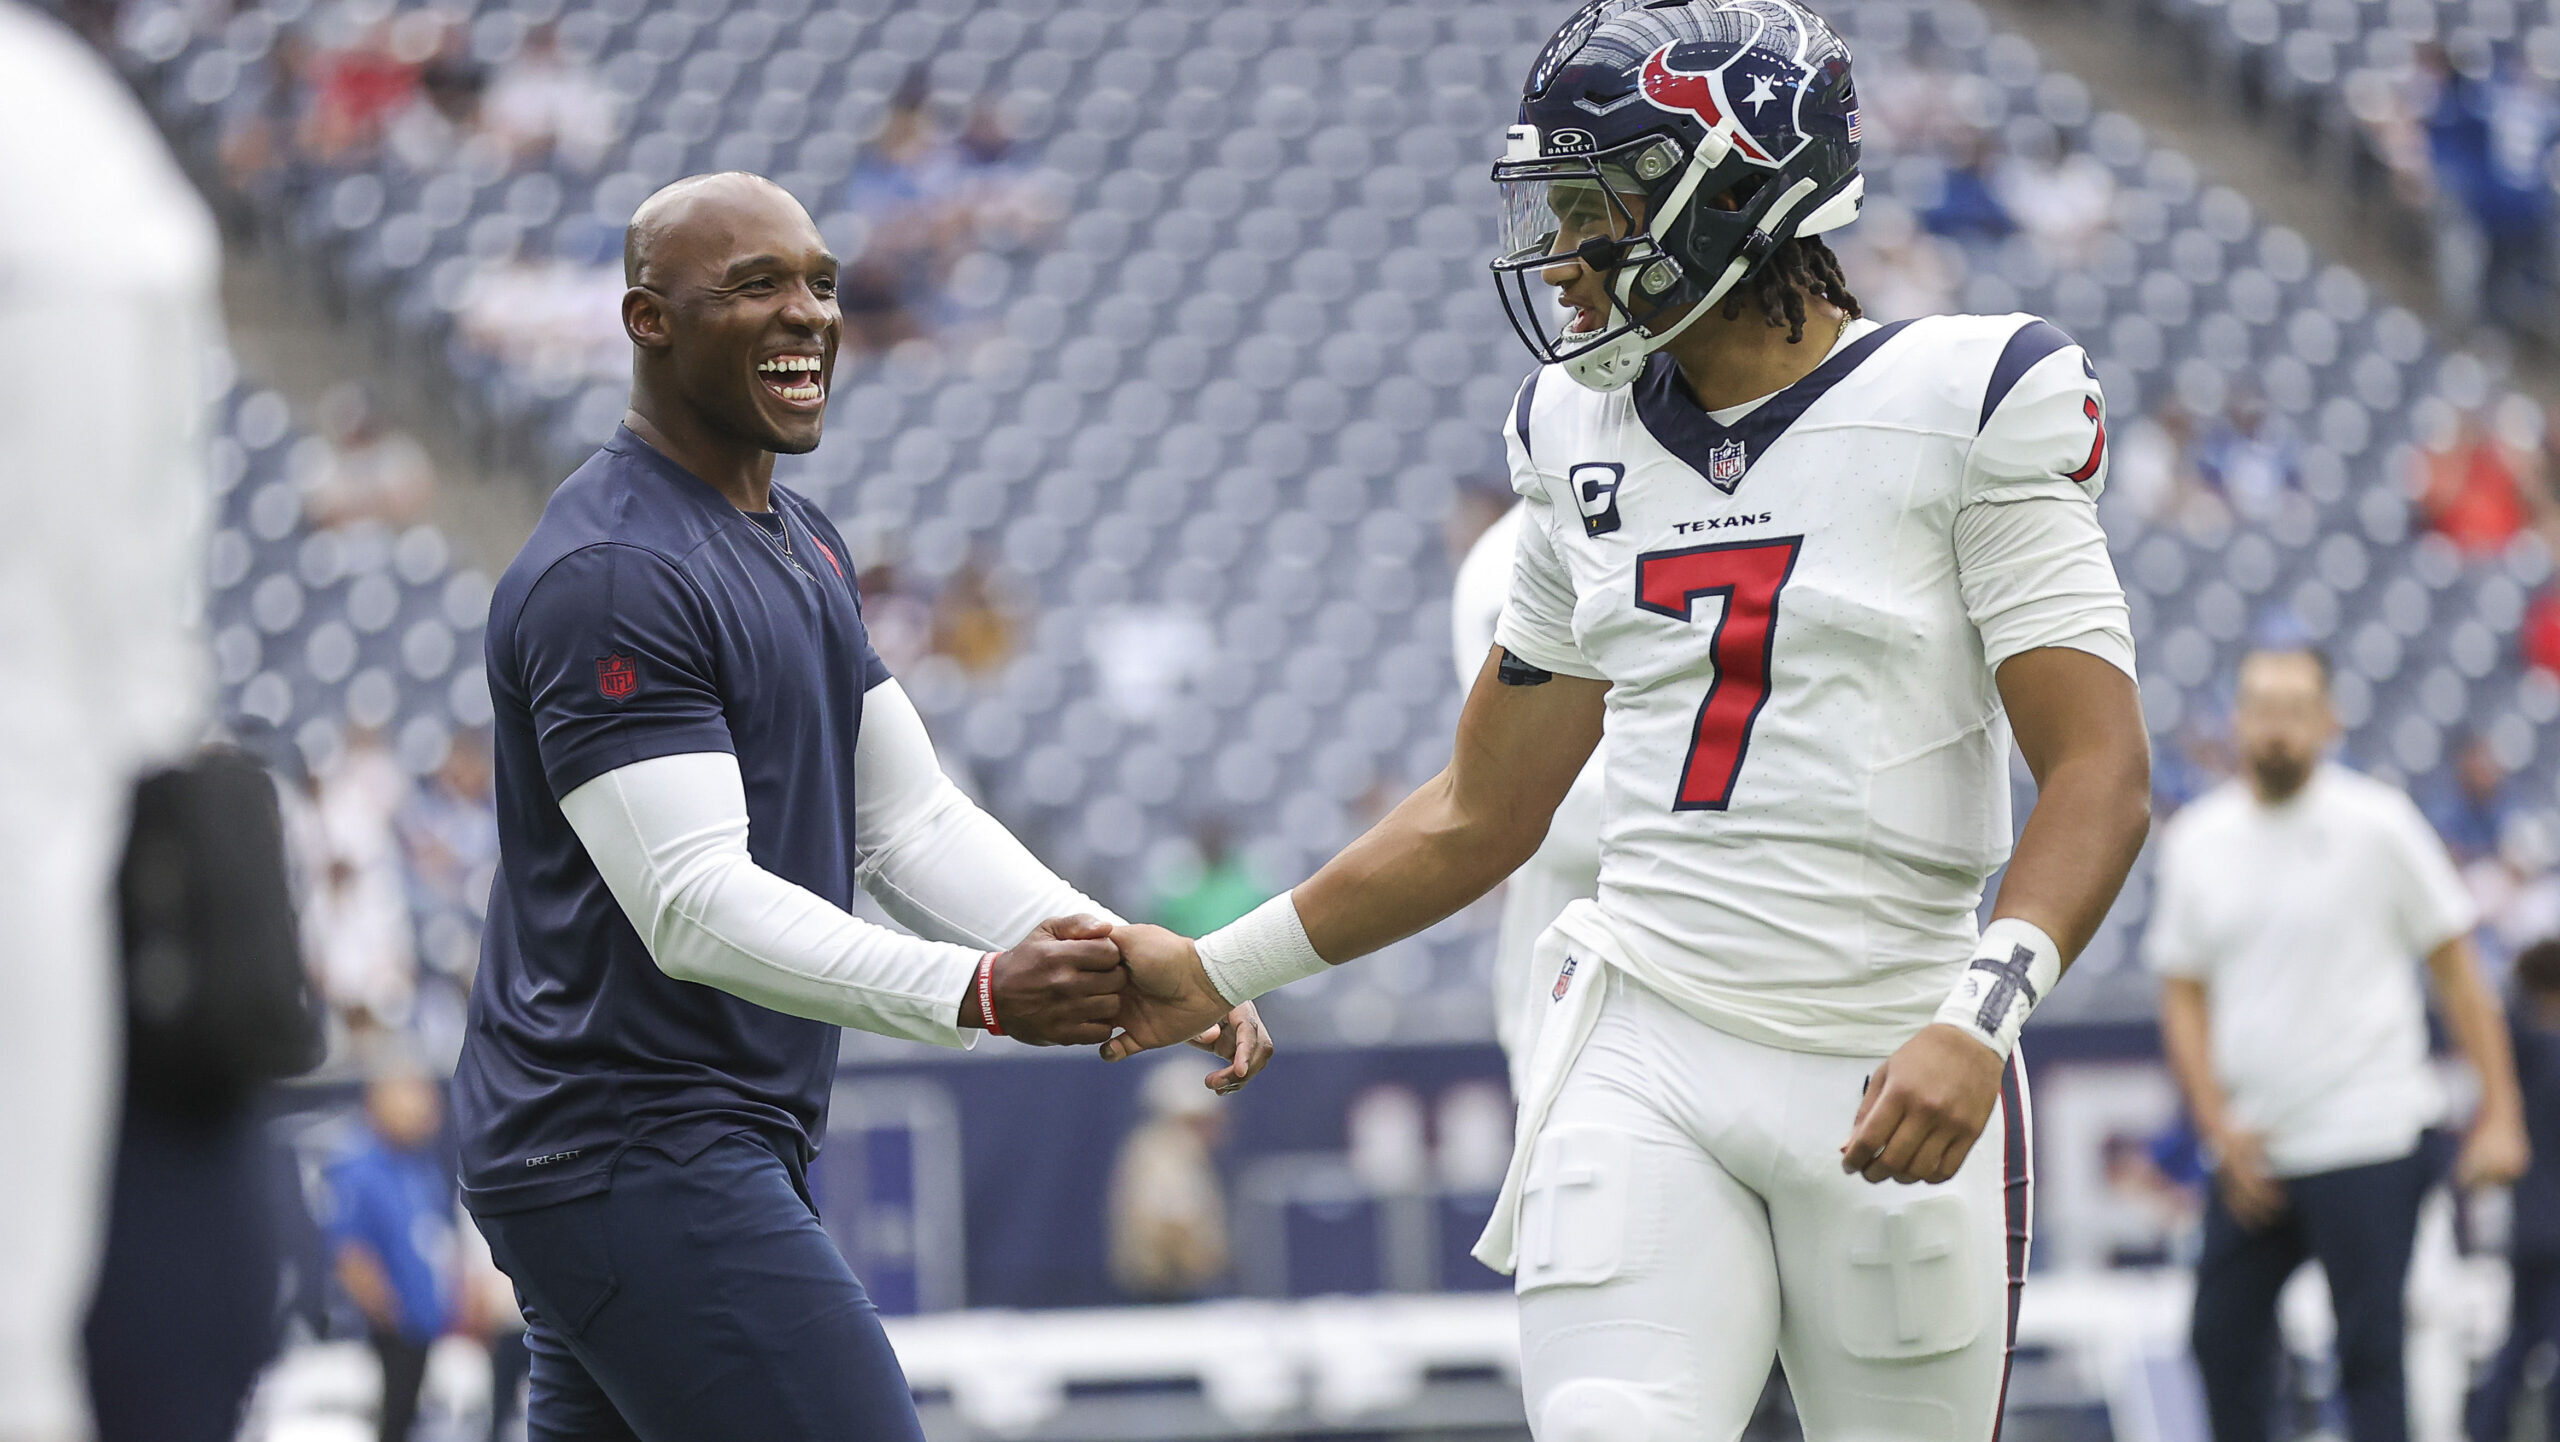
{"label": "dark pants of the blurred bearded man in white t-shirt", "polygon": [[2268,1442],[2276,1427],[2276,1293],[2317,1258],[2337,1309],[2337,1391],[2353,1442],[2409,1442],[2404,1291],[2429,1150],[2284,1178],[2286,1209],[2248,1229],[2214,1188],[2196,1258],[2196,1370],[2214,1442]]}

